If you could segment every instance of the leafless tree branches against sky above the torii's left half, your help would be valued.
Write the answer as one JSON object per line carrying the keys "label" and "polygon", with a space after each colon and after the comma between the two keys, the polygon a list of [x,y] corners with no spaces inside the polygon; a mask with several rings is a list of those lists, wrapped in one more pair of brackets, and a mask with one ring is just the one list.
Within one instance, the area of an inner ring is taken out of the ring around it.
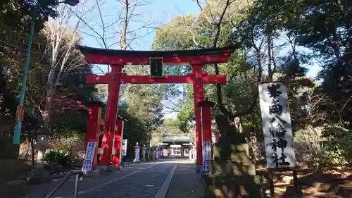
{"label": "leafless tree branches against sky above the torii's left half", "polygon": [[[156,27],[153,27],[153,22],[144,21],[144,15],[137,13],[137,7],[146,6],[147,4],[148,1],[141,0],[94,0],[94,6],[89,9],[94,15],[91,16],[93,18],[92,21],[88,20],[88,16],[80,16],[77,13],[75,13],[75,16],[82,21],[81,32],[84,35],[95,38],[102,48],[111,49],[118,45],[118,49],[126,50],[127,48],[132,49],[131,45],[136,44],[138,39],[149,35],[152,32],[149,30],[156,29]],[[118,7],[114,11],[115,15],[104,14],[103,10],[106,11],[106,9],[114,6]],[[99,21],[98,25],[94,24],[96,19]],[[134,26],[134,23],[140,23],[141,25],[130,29],[130,27]],[[99,28],[96,28],[96,26]],[[146,33],[144,33],[145,30]],[[108,72],[109,69],[108,66]],[[99,70],[102,71],[101,68]],[[130,68],[127,68],[127,70],[130,70]]]}

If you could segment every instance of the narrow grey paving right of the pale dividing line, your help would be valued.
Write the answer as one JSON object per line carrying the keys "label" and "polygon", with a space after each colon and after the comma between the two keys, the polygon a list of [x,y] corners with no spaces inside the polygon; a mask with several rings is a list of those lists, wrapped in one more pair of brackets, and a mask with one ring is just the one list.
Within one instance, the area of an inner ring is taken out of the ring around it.
{"label": "narrow grey paving right of the pale dividing line", "polygon": [[178,162],[166,198],[203,198],[203,178],[196,175],[196,165],[190,160]]}

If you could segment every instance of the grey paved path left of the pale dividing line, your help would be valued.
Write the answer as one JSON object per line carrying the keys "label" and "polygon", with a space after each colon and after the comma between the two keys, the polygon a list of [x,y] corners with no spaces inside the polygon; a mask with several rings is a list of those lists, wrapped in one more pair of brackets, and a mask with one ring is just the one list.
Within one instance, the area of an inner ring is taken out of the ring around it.
{"label": "grey paved path left of the pale dividing line", "polygon": [[[126,166],[121,171],[99,178],[84,178],[78,185],[78,197],[84,198],[153,198],[175,166],[172,159]],[[23,198],[41,198],[57,182],[30,188]],[[74,180],[68,180],[53,198],[73,197]]]}

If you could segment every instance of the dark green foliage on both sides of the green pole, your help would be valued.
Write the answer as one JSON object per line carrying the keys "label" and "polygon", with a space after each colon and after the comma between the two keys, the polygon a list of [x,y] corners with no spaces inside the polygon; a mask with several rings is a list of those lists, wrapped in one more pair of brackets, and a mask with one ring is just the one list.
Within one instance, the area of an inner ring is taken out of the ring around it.
{"label": "dark green foliage on both sides of the green pole", "polygon": [[[18,92],[22,85],[23,66],[27,47],[27,35],[30,27],[30,17],[32,16],[33,6],[37,1],[32,0],[5,0],[0,3],[0,117],[1,137],[12,136],[13,118],[15,117],[16,106],[18,104]],[[42,96],[42,90],[33,85],[45,76],[44,66],[40,49],[45,49],[46,39],[37,36],[42,30],[44,23],[49,17],[56,17],[56,6],[37,5],[36,23],[34,29],[34,39],[31,51],[30,76],[27,80],[27,93]],[[33,75],[33,73],[37,73]],[[30,93],[28,93],[30,92]],[[34,98],[35,99],[35,98]],[[40,118],[34,106],[26,99],[25,120],[23,120],[23,137],[29,135],[31,130],[40,126]],[[8,120],[8,121],[7,121]],[[11,120],[11,121],[10,121]],[[8,129],[8,125],[11,128]],[[11,131],[11,132],[10,132]],[[25,138],[23,138],[24,140]]]}

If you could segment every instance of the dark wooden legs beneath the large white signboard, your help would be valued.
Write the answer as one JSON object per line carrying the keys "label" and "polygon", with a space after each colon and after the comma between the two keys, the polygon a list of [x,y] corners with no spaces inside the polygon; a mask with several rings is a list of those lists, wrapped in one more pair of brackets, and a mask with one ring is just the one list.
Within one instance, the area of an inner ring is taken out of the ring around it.
{"label": "dark wooden legs beneath the large white signboard", "polygon": [[298,197],[301,197],[301,193],[298,188],[298,177],[297,177],[297,167],[288,167],[288,168],[268,168],[268,184],[270,189],[270,198],[275,198],[274,191],[274,172],[289,172],[292,171],[292,175],[294,176],[294,188]]}

